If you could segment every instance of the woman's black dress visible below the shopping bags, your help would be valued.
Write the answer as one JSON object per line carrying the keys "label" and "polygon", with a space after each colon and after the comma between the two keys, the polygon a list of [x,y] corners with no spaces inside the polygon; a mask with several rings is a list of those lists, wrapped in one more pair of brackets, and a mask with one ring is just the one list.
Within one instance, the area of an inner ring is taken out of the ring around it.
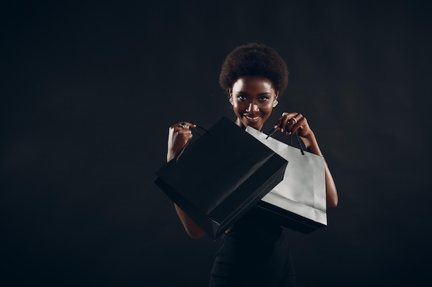
{"label": "woman's black dress visible below the shopping bags", "polygon": [[222,235],[210,287],[295,286],[293,262],[281,226],[245,215]]}

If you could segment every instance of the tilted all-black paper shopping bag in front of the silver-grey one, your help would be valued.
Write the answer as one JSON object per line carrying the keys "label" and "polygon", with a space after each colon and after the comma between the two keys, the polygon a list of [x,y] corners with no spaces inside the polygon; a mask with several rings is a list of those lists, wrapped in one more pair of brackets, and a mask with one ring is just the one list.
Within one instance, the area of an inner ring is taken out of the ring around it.
{"label": "tilted all-black paper shopping bag in front of the silver-grey one", "polygon": [[282,181],[286,164],[222,117],[161,167],[155,184],[215,240]]}

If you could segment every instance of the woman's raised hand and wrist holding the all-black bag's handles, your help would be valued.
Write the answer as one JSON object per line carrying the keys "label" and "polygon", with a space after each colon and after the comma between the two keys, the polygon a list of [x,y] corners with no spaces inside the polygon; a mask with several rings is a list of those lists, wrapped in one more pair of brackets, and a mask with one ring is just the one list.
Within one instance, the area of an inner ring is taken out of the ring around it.
{"label": "woman's raised hand and wrist holding the all-black bag's handles", "polygon": [[192,138],[190,127],[197,126],[193,123],[180,122],[170,127],[168,133],[168,152],[166,153],[167,162],[175,158]]}

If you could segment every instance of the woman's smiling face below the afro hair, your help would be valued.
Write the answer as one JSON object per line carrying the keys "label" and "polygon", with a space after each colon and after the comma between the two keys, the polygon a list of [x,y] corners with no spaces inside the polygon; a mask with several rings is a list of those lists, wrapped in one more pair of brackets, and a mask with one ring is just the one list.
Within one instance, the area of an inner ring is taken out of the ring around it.
{"label": "woman's smiling face below the afro hair", "polygon": [[273,111],[273,102],[279,96],[273,83],[263,76],[242,76],[230,89],[235,123],[239,127],[250,126],[261,130]]}

